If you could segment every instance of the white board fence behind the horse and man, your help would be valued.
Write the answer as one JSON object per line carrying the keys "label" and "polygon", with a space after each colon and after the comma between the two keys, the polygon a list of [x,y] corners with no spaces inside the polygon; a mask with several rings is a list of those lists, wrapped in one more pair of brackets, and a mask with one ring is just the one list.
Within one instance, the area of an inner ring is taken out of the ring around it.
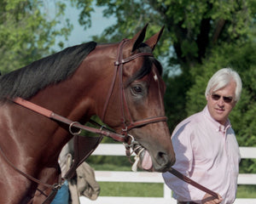
{"label": "white board fence behind the horse and man", "polygon": [[[256,147],[240,147],[241,158],[256,158]],[[93,155],[125,156],[125,147],[122,144],[100,144]],[[96,180],[100,182],[134,182],[134,183],[161,183],[163,184],[163,197],[120,197],[99,196],[96,201],[80,197],[81,204],[176,204],[170,190],[161,176],[161,173],[148,172],[110,172],[96,171]],[[240,173],[238,184],[256,184],[256,174]],[[237,198],[234,204],[255,204],[256,198]]]}

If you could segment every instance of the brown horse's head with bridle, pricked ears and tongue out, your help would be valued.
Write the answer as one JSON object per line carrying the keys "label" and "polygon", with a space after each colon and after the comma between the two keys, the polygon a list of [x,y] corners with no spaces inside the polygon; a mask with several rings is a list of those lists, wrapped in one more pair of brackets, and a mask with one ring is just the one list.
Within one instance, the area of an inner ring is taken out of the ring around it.
{"label": "brown horse's head with bridle, pricked ears and tongue out", "polygon": [[113,88],[101,118],[127,136],[127,145],[140,156],[139,167],[165,172],[175,162],[175,154],[166,123],[162,67],[152,54],[163,28],[143,42],[146,30],[147,26],[119,43]]}

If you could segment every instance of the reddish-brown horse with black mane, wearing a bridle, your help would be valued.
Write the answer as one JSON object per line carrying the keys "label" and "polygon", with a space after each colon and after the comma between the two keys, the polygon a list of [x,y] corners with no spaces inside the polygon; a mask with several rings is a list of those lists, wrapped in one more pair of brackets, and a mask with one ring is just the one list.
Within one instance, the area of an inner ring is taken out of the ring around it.
{"label": "reddish-brown horse with black mane, wearing a bridle", "polygon": [[[62,184],[61,149],[77,133],[75,125],[91,116],[113,129],[113,139],[138,147],[139,167],[172,167],[166,85],[153,55],[163,28],[144,42],[147,26],[131,39],[65,48],[0,77],[0,203],[50,203]],[[44,116],[20,100],[73,122]],[[93,149],[90,139],[87,144],[84,150]]]}

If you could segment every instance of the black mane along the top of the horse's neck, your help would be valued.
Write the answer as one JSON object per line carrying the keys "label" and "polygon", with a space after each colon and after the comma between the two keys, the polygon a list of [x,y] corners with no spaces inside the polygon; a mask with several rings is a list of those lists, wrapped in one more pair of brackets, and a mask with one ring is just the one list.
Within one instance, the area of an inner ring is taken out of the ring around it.
{"label": "black mane along the top of the horse's neck", "polygon": [[0,100],[7,97],[28,99],[46,86],[67,79],[94,48],[96,42],[66,48],[3,75],[0,77]]}

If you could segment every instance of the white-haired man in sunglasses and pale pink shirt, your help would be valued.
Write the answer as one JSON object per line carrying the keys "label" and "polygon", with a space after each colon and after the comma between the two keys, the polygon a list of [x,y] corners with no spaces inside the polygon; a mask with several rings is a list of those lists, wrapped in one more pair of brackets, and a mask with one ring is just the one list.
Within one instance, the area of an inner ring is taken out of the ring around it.
{"label": "white-haired man in sunglasses and pale pink shirt", "polygon": [[230,204],[236,198],[240,152],[228,116],[241,95],[241,78],[224,68],[209,80],[207,106],[180,122],[172,133],[173,168],[218,193],[215,199],[172,175],[163,173],[177,203]]}

